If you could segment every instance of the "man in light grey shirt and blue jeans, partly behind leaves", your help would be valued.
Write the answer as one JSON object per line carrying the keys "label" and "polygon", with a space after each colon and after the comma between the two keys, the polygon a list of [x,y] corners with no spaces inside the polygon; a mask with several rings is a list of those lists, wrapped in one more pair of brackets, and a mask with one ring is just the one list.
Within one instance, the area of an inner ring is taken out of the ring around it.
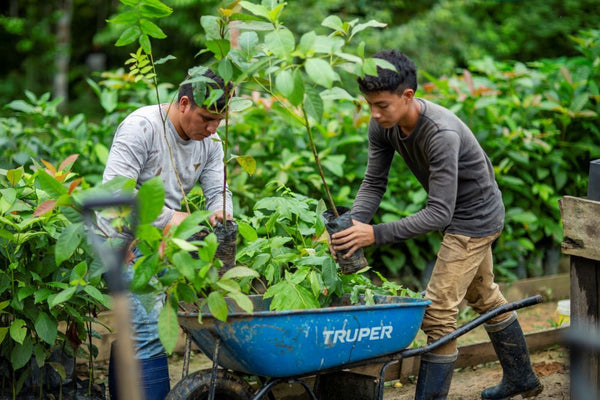
{"label": "man in light grey shirt and blue jeans, partly behind leaves", "polygon": [[[223,79],[211,70],[207,69],[203,75],[213,81],[207,86],[222,89],[224,93],[229,91]],[[207,87],[206,97],[209,90]],[[223,94],[211,106],[197,104],[194,87],[187,83],[180,87],[176,102],[146,106],[132,112],[117,128],[103,181],[124,176],[135,180],[139,188],[147,180],[160,176],[165,188],[165,205],[153,225],[165,233],[188,216],[180,211],[181,203],[196,183],[202,188],[206,208],[213,211],[211,224],[223,222],[224,153],[216,131],[225,116],[226,103]],[[231,193],[227,190],[227,219],[232,218],[231,204]],[[99,218],[99,226],[111,236],[131,238],[128,231],[112,229],[109,220]],[[133,249],[133,261],[126,278],[132,278],[131,266],[140,255]],[[140,363],[145,399],[162,400],[170,389],[167,356],[158,337],[158,316],[164,296],[154,296],[155,306],[150,311],[144,307],[146,301],[142,296],[152,295],[130,295],[134,350]],[[113,400],[118,394],[117,380],[114,370],[109,368]]]}

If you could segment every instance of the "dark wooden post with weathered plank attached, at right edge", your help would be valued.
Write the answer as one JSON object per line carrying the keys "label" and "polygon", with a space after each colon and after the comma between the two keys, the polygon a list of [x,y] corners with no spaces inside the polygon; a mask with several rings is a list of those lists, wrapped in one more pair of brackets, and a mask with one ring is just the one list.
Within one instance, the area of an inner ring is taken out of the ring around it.
{"label": "dark wooden post with weathered plank attached, at right edge", "polygon": [[[600,201],[595,201],[600,200],[598,161],[590,163],[588,198],[564,196],[559,201],[564,236],[561,248],[571,259],[570,329],[576,336],[590,339],[589,343],[600,342]],[[571,347],[571,367],[571,398],[597,395],[598,346]]]}

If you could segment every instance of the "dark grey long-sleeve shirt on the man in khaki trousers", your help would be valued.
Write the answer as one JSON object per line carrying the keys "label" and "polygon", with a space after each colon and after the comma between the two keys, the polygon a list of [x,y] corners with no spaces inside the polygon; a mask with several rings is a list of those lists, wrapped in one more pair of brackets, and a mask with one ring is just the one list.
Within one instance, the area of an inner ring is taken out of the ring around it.
{"label": "dark grey long-sleeve shirt on the man in khaki trousers", "polygon": [[[369,123],[369,161],[352,216],[368,223],[386,192],[395,152],[427,191],[427,205],[406,218],[374,225],[375,244],[443,231],[483,237],[502,230],[504,205],[492,164],[471,130],[450,110],[426,101],[413,132]],[[392,194],[393,195],[393,194]]]}

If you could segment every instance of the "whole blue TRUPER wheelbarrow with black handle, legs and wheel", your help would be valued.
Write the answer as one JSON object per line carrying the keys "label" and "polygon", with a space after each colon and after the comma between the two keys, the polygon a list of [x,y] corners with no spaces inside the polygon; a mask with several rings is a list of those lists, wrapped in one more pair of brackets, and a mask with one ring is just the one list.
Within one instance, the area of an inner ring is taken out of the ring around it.
{"label": "whole blue TRUPER wheelbarrow with black handle, legs and wheel", "polygon": [[[178,314],[179,324],[213,361],[211,370],[196,371],[177,383],[167,399],[259,400],[273,399],[279,383],[297,383],[309,398],[315,388],[303,378],[367,364],[382,364],[376,399],[383,398],[387,367],[453,340],[491,318],[542,301],[533,296],[505,304],[459,327],[428,345],[407,348],[414,340],[429,300],[375,296],[375,304],[350,304],[339,299],[331,307],[270,311],[270,300],[250,296],[254,311],[246,313],[228,299],[226,322],[194,306]],[[218,368],[220,367],[220,368]],[[258,389],[246,379],[258,377]],[[317,383],[318,385],[318,383]]]}

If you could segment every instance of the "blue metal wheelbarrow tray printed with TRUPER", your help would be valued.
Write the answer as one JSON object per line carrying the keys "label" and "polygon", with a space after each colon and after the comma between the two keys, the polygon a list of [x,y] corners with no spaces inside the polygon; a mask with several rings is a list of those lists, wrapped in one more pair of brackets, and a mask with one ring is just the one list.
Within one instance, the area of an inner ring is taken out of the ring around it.
{"label": "blue metal wheelbarrow tray printed with TRUPER", "polygon": [[227,321],[198,310],[178,314],[194,343],[226,369],[265,377],[289,377],[338,368],[396,353],[415,338],[431,302],[402,296],[375,296],[375,304],[340,299],[327,308],[270,311],[270,299],[250,296],[246,313],[227,300]]}

